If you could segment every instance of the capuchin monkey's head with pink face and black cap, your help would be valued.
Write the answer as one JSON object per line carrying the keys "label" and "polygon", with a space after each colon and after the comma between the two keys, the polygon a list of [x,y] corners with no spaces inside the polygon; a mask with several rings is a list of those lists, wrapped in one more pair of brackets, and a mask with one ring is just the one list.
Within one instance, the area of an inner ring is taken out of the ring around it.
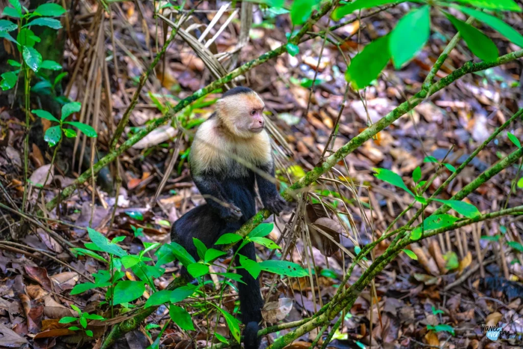
{"label": "capuchin monkey's head with pink face and black cap", "polygon": [[264,108],[263,100],[252,89],[234,87],[218,100],[216,115],[233,136],[251,138],[265,127]]}

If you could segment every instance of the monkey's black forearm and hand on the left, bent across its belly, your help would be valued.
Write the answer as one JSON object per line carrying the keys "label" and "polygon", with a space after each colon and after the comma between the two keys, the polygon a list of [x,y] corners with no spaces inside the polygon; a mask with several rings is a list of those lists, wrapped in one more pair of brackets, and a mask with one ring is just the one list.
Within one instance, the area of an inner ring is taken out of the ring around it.
{"label": "monkey's black forearm and hand on the left, bent across its belly", "polygon": [[216,211],[222,219],[238,220],[242,217],[242,211],[234,205],[229,198],[223,185],[218,181],[218,176],[213,173],[203,173],[193,176],[201,195],[205,197],[207,204]]}

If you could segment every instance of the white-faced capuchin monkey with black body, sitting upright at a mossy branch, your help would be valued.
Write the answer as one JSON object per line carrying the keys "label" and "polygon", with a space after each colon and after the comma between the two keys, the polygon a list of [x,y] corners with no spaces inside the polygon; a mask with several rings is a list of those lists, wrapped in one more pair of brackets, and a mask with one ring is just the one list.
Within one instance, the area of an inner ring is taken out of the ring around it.
{"label": "white-faced capuchin monkey with black body, sitting upright at a mossy branch", "polygon": [[[270,212],[279,214],[287,206],[276,185],[256,173],[261,171],[274,177],[269,135],[264,129],[264,107],[252,89],[232,88],[222,95],[214,114],[196,132],[189,167],[207,204],[187,212],[173,224],[171,231],[171,239],[196,260],[198,254],[192,238],[211,247],[222,234],[235,232],[255,215],[255,185],[264,207]],[[236,161],[237,158],[250,168]],[[259,171],[252,171],[253,167]],[[242,247],[240,254],[256,261],[253,243]],[[236,264],[239,264],[238,258]],[[243,268],[237,272],[245,283],[238,283],[245,348],[258,349],[258,323],[263,307],[259,282]]]}

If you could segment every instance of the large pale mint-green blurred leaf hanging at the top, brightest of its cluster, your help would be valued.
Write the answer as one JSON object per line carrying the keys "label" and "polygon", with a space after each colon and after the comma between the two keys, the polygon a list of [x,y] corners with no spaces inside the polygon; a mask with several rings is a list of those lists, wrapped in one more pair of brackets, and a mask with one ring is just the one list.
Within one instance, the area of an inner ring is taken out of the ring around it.
{"label": "large pale mint-green blurred leaf hanging at the top, brightest of its cluster", "polygon": [[396,69],[410,61],[425,46],[430,35],[430,6],[425,5],[403,16],[392,30],[389,50]]}

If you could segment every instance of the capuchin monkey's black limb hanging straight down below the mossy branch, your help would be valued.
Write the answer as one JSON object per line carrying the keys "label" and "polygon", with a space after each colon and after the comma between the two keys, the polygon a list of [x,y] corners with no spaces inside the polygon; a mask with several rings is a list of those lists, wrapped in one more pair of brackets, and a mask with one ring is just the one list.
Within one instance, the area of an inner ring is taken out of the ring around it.
{"label": "capuchin monkey's black limb hanging straight down below the mossy branch", "polygon": [[[256,261],[254,243],[250,242],[243,246],[240,254]],[[236,257],[236,265],[240,265],[239,257]],[[261,321],[261,308],[264,303],[261,298],[259,278],[255,279],[243,268],[237,269],[237,273],[242,276],[242,280],[245,283],[238,283],[242,322],[245,324],[245,349],[258,349],[261,342],[261,339],[258,338],[258,323]]]}

